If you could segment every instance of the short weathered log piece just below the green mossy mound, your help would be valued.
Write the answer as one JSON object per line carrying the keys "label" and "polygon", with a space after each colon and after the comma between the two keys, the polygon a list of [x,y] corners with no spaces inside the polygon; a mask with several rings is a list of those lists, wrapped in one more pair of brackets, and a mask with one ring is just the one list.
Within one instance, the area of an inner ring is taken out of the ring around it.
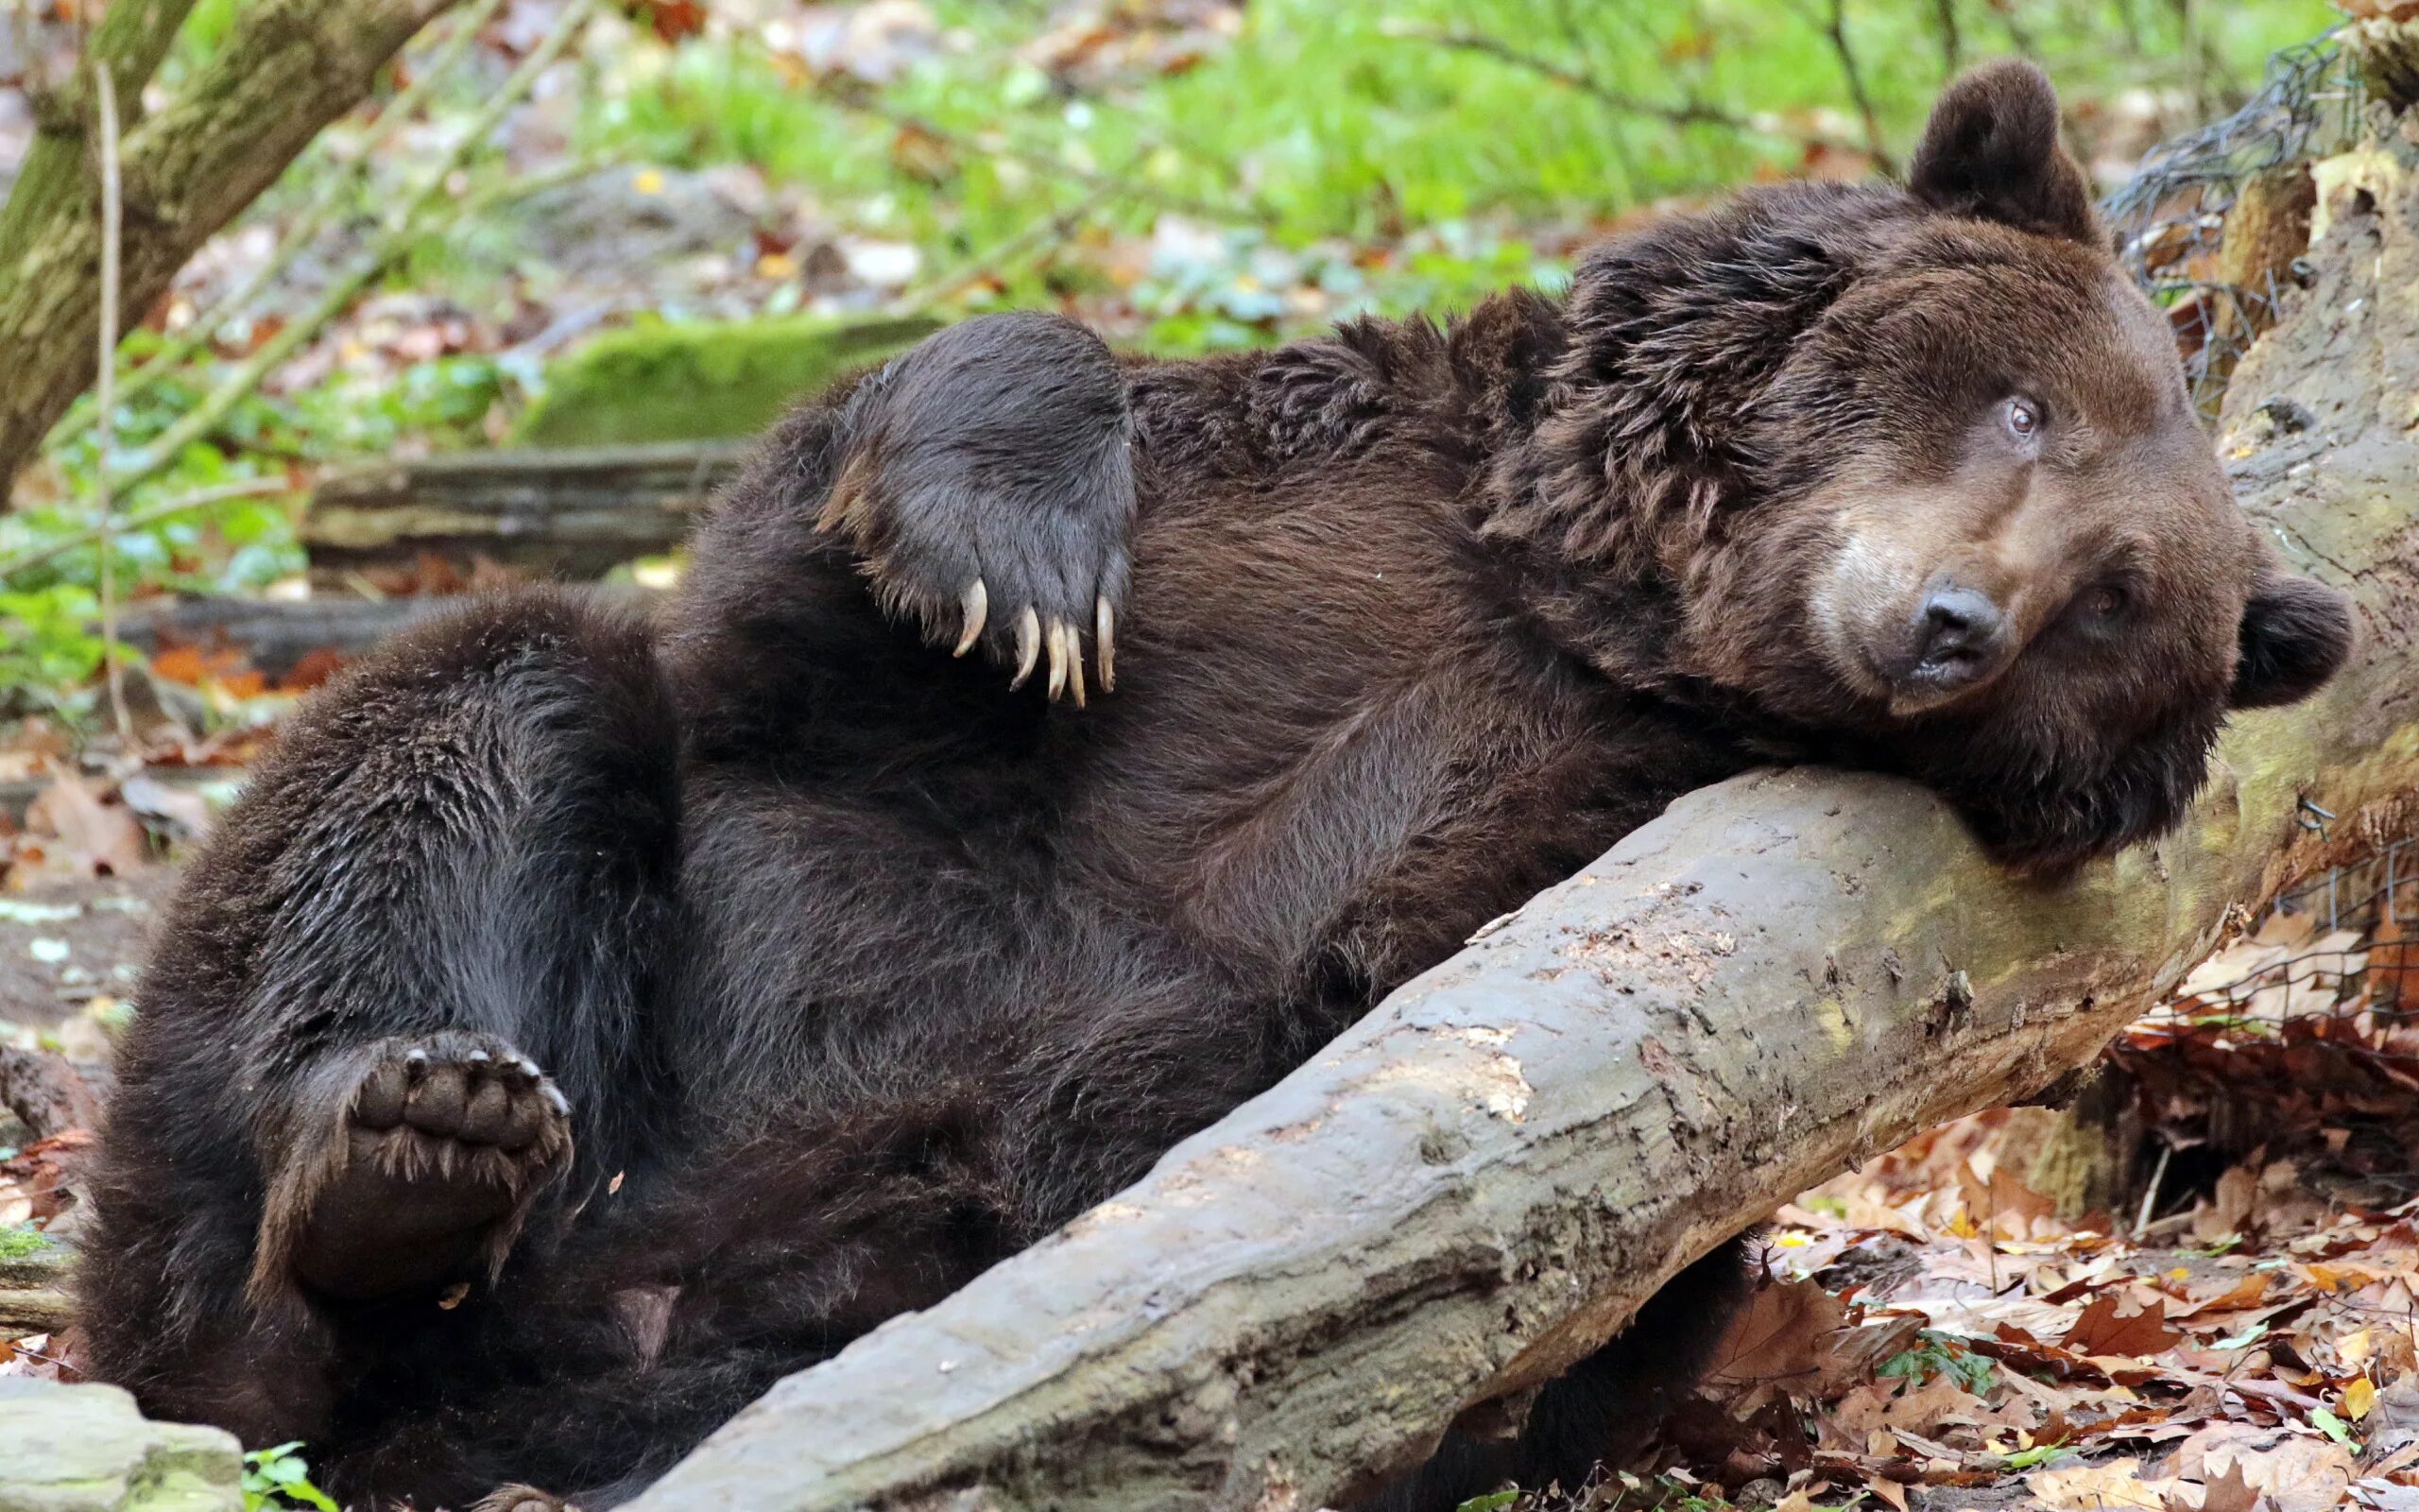
{"label": "short weathered log piece just below the green mossy mound", "polygon": [[462,452],[365,467],[319,484],[302,520],[312,578],[416,569],[469,578],[484,556],[539,578],[595,578],[670,552],[745,443]]}

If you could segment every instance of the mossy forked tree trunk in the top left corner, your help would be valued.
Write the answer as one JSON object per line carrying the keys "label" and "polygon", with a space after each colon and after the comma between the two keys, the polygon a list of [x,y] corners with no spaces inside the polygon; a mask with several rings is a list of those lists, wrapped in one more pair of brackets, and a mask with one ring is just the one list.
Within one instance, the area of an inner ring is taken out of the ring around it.
{"label": "mossy forked tree trunk in the top left corner", "polygon": [[[179,99],[123,135],[121,307],[131,317],[150,310],[177,269],[249,206],[322,126],[353,109],[370,92],[377,68],[450,2],[259,0],[239,7],[218,60]],[[111,5],[111,17],[116,10]],[[160,0],[143,5],[148,17],[172,10]],[[126,31],[162,46],[167,36],[133,22]],[[111,68],[111,77],[121,70]],[[135,94],[121,87],[121,99]],[[82,133],[58,131],[53,121],[53,138],[29,155],[0,213],[0,247],[15,249],[0,261],[0,351],[10,365],[0,385],[0,491],[94,375],[99,184]]]}

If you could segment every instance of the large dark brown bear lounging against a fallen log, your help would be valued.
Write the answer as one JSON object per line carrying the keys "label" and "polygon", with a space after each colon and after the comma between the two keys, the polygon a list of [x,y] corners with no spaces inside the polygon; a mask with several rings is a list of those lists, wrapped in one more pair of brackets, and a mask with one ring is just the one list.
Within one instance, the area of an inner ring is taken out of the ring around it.
{"label": "large dark brown bear lounging against a fallen log", "polygon": [[[2044,873],[2158,835],[2351,622],[2056,121],[1984,68],[1904,189],[1444,327],[977,319],[781,423],[660,624],[525,593],[368,658],[143,980],[92,1372],[358,1502],[612,1505],[1693,786],[1904,772]],[[1364,1495],[1575,1476],[1739,1289]]]}

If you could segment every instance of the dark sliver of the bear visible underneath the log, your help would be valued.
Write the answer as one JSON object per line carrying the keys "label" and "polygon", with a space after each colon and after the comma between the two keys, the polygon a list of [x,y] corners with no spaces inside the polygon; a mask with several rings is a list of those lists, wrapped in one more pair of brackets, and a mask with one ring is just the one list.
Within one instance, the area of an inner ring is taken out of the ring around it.
{"label": "dark sliver of the bear visible underneath the log", "polygon": [[1355,1512],[1451,1512],[1497,1485],[1577,1490],[1599,1464],[1621,1464],[1696,1389],[1713,1350],[1754,1294],[1749,1241],[1732,1239],[1674,1275],[1630,1326],[1548,1381],[1507,1444],[1447,1432],[1437,1454]]}

